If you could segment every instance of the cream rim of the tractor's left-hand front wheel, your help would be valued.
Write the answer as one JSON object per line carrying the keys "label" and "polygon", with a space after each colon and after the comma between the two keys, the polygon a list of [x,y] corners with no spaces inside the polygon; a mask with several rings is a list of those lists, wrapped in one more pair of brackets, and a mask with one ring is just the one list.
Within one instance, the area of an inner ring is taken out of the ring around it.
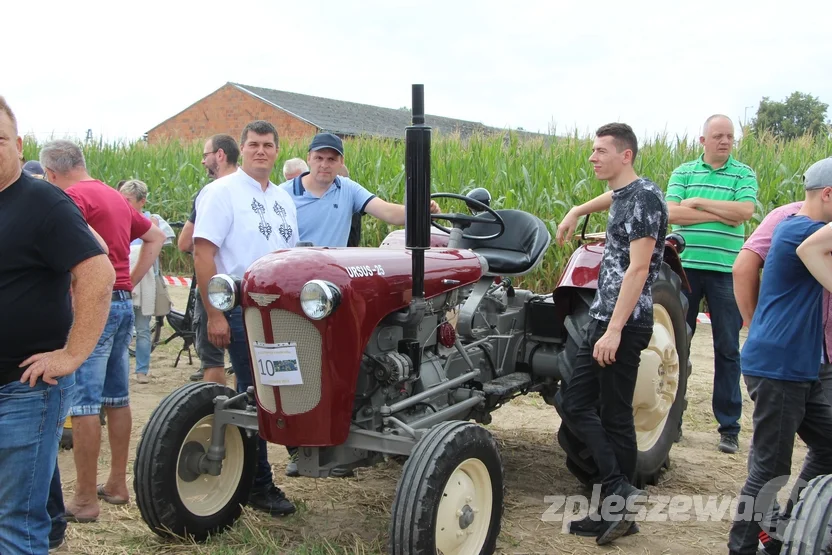
{"label": "cream rim of the tractor's left-hand front wheel", "polygon": [[[211,446],[211,431],[214,415],[208,415],[197,422],[179,449],[177,467],[182,461],[185,446],[195,442],[207,453]],[[211,516],[221,511],[234,496],[243,475],[245,466],[245,448],[243,438],[236,426],[225,427],[225,459],[219,476],[201,474],[193,481],[184,480],[176,474],[176,488],[179,499],[187,510],[197,516]]]}

